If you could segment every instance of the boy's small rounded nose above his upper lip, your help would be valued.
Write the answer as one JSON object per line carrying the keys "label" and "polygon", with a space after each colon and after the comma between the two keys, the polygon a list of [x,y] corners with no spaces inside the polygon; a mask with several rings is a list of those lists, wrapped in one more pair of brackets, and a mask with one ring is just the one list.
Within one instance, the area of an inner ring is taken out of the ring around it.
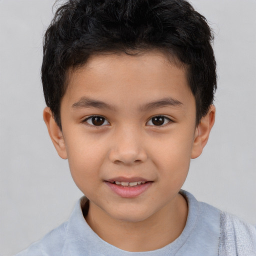
{"label": "boy's small rounded nose above his upper lip", "polygon": [[116,164],[133,165],[147,159],[142,134],[135,127],[115,130],[109,152],[109,160]]}

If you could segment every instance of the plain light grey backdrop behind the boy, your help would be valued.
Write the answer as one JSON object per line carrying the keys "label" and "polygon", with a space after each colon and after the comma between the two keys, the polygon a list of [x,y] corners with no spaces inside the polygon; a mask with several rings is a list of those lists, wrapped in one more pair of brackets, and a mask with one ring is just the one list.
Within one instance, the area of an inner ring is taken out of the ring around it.
{"label": "plain light grey backdrop behind the boy", "polygon": [[[0,0],[0,255],[65,221],[82,195],[42,120],[42,36],[53,3]],[[256,0],[191,3],[215,32],[219,77],[215,125],[183,188],[256,224]]]}

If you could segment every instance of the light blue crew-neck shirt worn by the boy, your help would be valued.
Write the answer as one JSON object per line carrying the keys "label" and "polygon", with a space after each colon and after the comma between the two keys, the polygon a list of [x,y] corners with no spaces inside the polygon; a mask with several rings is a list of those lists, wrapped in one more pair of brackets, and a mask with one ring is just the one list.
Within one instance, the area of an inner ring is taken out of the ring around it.
{"label": "light blue crew-neck shirt worn by the boy", "polygon": [[198,202],[181,190],[188,203],[188,216],[180,236],[166,246],[145,252],[121,250],[102,240],[85,221],[82,197],[68,221],[16,256],[253,256],[256,255],[256,230],[238,218]]}

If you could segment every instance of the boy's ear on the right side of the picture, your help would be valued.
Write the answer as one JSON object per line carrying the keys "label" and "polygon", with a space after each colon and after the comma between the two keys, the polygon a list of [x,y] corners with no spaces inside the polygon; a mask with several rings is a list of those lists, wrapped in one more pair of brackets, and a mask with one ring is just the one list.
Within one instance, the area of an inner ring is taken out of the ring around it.
{"label": "boy's ear on the right side of the picture", "polygon": [[204,115],[200,123],[195,129],[194,132],[194,142],[193,142],[193,147],[192,147],[192,153],[191,153],[191,158],[194,159],[198,157],[201,152],[203,147],[206,145],[210,130],[214,124],[215,121],[215,106],[211,105],[209,108],[209,111],[207,112],[206,115]]}

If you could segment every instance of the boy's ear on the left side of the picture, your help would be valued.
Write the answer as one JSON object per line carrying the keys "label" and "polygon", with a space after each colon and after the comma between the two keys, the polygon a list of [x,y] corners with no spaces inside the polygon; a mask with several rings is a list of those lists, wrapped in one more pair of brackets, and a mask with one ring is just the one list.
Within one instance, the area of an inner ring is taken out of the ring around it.
{"label": "boy's ear on the left side of the picture", "polygon": [[59,126],[55,122],[53,114],[49,107],[45,107],[43,109],[43,120],[47,126],[51,141],[56,148],[58,155],[61,158],[66,159],[67,154],[63,134]]}

